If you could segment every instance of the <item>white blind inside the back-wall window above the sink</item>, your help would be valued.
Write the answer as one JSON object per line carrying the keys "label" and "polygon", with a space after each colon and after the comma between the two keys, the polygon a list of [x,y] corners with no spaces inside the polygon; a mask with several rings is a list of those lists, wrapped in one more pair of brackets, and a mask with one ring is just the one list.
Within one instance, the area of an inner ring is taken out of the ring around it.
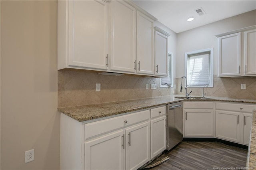
{"label": "white blind inside the back-wall window above the sink", "polygon": [[210,85],[210,51],[188,55],[188,86]]}

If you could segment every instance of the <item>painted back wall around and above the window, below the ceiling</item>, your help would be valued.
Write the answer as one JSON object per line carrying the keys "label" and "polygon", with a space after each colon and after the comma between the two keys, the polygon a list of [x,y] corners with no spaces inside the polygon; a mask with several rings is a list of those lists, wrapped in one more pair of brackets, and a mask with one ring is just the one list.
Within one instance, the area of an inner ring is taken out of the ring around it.
{"label": "painted back wall around and above the window, below the ceiling", "polygon": [[214,47],[214,75],[218,74],[218,39],[215,35],[256,25],[256,10],[177,34],[176,77],[184,75],[184,54]]}

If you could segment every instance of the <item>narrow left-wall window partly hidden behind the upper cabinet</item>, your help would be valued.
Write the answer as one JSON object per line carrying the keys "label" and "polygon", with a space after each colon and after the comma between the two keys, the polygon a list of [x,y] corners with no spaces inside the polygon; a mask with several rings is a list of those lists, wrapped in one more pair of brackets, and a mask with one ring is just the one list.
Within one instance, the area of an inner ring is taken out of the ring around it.
{"label": "narrow left-wall window partly hidden behind the upper cabinet", "polygon": [[172,87],[172,53],[168,53],[168,77],[160,78],[160,87]]}

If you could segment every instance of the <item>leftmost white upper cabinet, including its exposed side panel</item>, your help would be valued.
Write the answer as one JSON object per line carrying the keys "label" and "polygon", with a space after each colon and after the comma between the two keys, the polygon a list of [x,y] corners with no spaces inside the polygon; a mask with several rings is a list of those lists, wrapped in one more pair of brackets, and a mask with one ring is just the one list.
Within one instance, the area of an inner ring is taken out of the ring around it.
{"label": "leftmost white upper cabinet, including its exposed side panel", "polygon": [[109,2],[58,1],[58,69],[108,69]]}

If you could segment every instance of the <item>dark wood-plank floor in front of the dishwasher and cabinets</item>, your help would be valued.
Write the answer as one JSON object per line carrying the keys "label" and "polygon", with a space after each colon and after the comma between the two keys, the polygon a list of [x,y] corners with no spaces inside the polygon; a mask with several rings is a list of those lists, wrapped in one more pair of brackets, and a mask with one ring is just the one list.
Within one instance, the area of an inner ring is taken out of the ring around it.
{"label": "dark wood-plank floor in front of the dishwasher and cabinets", "polygon": [[[157,160],[166,162],[150,170],[213,170],[224,167],[245,167],[247,150],[220,142],[182,141],[176,148]],[[155,162],[155,161],[154,161]]]}

